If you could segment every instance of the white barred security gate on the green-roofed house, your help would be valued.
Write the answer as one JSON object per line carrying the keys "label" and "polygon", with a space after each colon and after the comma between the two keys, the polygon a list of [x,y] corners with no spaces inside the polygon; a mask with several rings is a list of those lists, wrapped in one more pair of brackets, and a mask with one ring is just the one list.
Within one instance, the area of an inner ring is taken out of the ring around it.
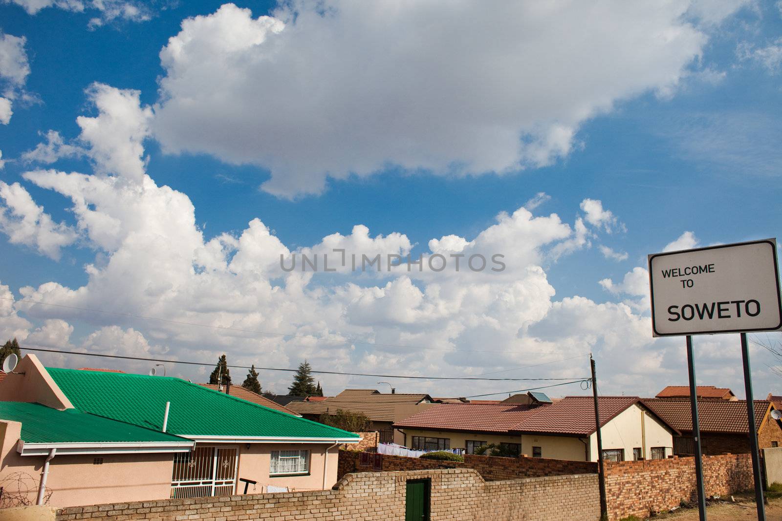
{"label": "white barred security gate on the green-roofed house", "polygon": [[197,447],[174,455],[171,498],[233,494],[238,459],[235,447]]}

